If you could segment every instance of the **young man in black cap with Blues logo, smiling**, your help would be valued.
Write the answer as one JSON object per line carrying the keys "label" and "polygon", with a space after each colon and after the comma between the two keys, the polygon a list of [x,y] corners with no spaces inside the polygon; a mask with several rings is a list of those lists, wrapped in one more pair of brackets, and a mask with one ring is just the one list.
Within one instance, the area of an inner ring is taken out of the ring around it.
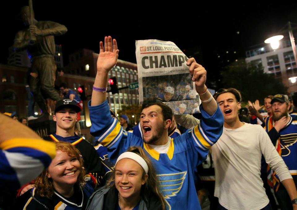
{"label": "young man in black cap with Blues logo, smiling", "polygon": [[97,178],[100,186],[104,184],[102,180],[105,175],[104,166],[93,145],[74,133],[77,113],[80,111],[80,107],[70,99],[58,101],[53,116],[54,121],[57,123],[56,133],[43,139],[55,142],[65,141],[73,144],[84,159],[84,168],[87,173],[92,173]]}

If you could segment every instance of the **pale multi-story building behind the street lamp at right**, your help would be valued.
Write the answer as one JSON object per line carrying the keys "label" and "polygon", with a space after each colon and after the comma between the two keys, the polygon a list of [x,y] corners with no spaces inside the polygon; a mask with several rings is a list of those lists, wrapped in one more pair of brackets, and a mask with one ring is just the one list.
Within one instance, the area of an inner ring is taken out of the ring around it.
{"label": "pale multi-story building behind the street lamp at right", "polygon": [[297,92],[297,66],[292,51],[290,40],[280,42],[278,49],[272,49],[270,45],[246,51],[246,62],[255,68],[263,68],[267,74],[272,74],[282,80],[288,87],[288,93]]}

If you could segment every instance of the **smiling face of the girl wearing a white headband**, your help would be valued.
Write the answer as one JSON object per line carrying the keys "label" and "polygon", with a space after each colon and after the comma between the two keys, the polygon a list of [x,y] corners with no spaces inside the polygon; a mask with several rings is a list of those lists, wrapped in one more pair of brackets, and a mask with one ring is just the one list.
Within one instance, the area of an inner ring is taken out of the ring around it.
{"label": "smiling face of the girl wearing a white headband", "polygon": [[114,184],[119,196],[128,199],[139,199],[141,186],[145,184],[148,175],[134,160],[124,158],[115,166]]}

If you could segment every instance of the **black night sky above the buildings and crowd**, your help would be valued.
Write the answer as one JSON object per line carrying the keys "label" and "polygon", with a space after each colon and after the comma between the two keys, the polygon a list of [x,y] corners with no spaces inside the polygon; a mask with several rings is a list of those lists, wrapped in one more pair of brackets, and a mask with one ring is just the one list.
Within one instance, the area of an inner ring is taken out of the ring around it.
{"label": "black night sky above the buildings and crowd", "polygon": [[[76,50],[87,48],[98,53],[99,41],[110,35],[118,41],[119,59],[136,62],[135,40],[159,39],[173,41],[187,56],[199,51],[197,58],[201,61],[197,62],[203,63],[206,70],[217,72],[220,69],[215,68],[220,65],[216,64],[222,62],[217,55],[225,59],[226,51],[236,51],[231,59],[245,58],[246,50],[263,45],[266,38],[277,35],[288,21],[297,26],[297,3],[266,6],[259,2],[193,5],[181,1],[172,5],[173,2],[152,1],[131,9],[136,5],[33,0],[33,9],[37,20],[51,20],[68,28],[65,35],[55,38],[56,44],[62,45],[64,65],[68,64],[68,54]],[[15,33],[24,28],[15,17],[28,1],[1,4],[0,62],[6,63]],[[294,34],[297,39],[297,30]],[[283,35],[288,39],[287,33]]]}

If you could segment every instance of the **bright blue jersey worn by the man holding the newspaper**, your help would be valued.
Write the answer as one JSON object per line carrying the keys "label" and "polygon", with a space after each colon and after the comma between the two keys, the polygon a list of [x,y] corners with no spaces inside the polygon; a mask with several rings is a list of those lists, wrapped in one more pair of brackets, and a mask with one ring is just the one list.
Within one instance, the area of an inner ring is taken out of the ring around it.
{"label": "bright blue jersey worn by the man holding the newspaper", "polygon": [[167,209],[200,209],[195,190],[196,167],[208,154],[210,148],[223,131],[223,115],[219,107],[209,116],[202,106],[202,120],[192,130],[170,139],[167,153],[159,154],[142,139],[123,131],[116,119],[111,118],[107,100],[101,105],[90,106],[91,134],[108,149],[114,163],[117,157],[130,146],[140,146],[150,157],[159,178],[161,192]]}

